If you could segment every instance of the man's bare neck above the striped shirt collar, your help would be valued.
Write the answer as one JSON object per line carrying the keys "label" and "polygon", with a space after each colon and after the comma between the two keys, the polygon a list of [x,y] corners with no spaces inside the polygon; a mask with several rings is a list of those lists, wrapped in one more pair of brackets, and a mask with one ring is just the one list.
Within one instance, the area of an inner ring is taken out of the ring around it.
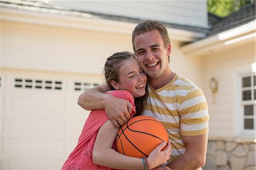
{"label": "man's bare neck above the striped shirt collar", "polygon": [[154,90],[160,89],[163,86],[167,85],[169,82],[174,79],[175,73],[170,70],[170,72],[164,73],[158,78],[148,78],[148,82]]}

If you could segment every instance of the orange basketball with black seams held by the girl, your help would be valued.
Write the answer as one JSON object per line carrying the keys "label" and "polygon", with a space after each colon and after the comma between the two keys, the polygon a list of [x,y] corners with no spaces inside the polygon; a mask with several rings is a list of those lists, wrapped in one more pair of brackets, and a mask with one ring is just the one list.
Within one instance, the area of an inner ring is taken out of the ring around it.
{"label": "orange basketball with black seams held by the girl", "polygon": [[123,155],[148,157],[160,143],[168,142],[168,134],[156,119],[139,115],[119,129],[115,142],[117,151]]}

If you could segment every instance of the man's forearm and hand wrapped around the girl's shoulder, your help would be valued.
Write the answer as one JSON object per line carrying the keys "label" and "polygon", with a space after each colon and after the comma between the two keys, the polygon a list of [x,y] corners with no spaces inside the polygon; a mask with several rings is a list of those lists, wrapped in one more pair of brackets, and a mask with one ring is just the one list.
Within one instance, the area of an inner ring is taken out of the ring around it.
{"label": "man's forearm and hand wrapped around the girl's shoulder", "polygon": [[122,126],[130,119],[133,105],[121,98],[105,94],[110,90],[107,84],[86,90],[79,96],[78,104],[85,110],[105,109],[110,121],[115,127]]}

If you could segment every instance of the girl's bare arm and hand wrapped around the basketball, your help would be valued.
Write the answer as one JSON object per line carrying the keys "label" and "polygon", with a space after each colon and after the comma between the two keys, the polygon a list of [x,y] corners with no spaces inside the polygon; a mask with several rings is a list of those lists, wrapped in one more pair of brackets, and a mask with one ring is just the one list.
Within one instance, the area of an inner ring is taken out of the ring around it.
{"label": "girl's bare arm and hand wrapped around the basketball", "polygon": [[[112,149],[118,130],[119,128],[114,127],[110,120],[101,126],[93,147],[93,163],[115,169],[143,169],[142,159],[126,156]],[[164,164],[170,159],[170,142],[168,143],[168,147],[164,151],[161,151],[165,144],[164,142],[160,144],[148,156],[150,169]]]}

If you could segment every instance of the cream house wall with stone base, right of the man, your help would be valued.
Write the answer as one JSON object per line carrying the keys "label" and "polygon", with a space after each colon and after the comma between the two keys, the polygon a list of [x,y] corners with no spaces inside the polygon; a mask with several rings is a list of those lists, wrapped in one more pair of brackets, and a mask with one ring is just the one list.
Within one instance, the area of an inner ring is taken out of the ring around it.
{"label": "cream house wall with stone base, right of the man", "polygon": [[[209,105],[209,139],[203,169],[255,169],[255,132],[245,133],[241,73],[252,72],[255,40],[226,45],[203,56],[204,93]],[[218,81],[213,95],[210,80]]]}

